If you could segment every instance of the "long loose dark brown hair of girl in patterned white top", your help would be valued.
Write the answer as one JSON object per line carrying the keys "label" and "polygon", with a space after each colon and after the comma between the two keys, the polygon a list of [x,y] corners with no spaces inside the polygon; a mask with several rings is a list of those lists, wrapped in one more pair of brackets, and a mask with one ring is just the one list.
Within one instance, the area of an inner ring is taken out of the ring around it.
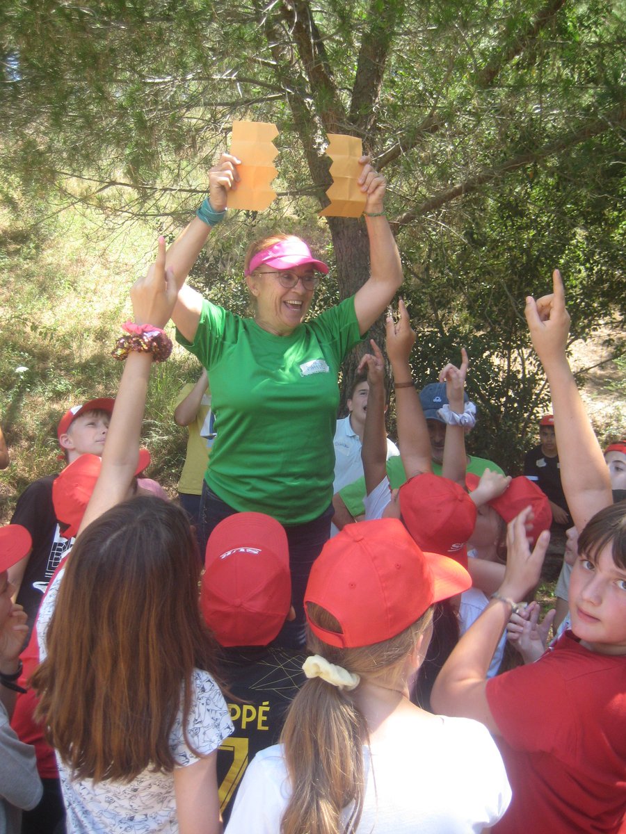
{"label": "long loose dark brown hair of girl in patterned white top", "polygon": [[215,673],[198,580],[194,535],[169,501],[124,501],[79,536],[32,678],[48,741],[78,779],[174,769],[169,735],[181,707],[187,726],[194,668]]}

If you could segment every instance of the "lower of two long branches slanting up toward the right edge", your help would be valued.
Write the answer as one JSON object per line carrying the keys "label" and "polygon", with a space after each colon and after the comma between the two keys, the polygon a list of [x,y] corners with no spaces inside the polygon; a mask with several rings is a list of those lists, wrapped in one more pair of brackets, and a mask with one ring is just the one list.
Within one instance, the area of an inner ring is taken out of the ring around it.
{"label": "lower of two long branches slanting up toward the right edge", "polygon": [[583,128],[578,128],[578,130],[567,133],[562,138],[544,145],[543,148],[538,148],[538,150],[529,153],[519,153],[511,159],[507,159],[506,162],[495,165],[492,168],[486,168],[481,173],[467,178],[463,183],[434,194],[419,206],[416,206],[416,208],[413,208],[411,211],[402,214],[399,218],[392,221],[391,226],[397,231],[397,229],[412,223],[413,220],[421,217],[423,214],[428,214],[437,208],[441,208],[442,205],[450,203],[453,199],[461,197],[463,194],[477,191],[480,186],[492,182],[494,179],[501,178],[505,173],[514,171],[516,168],[523,168],[524,165],[538,162],[566,148],[572,148],[574,145],[598,136],[600,133],[604,133],[612,128],[613,124],[621,124],[624,121],[626,121],[626,104],[614,110],[613,113],[609,113],[605,118],[598,119],[598,121],[588,123]]}

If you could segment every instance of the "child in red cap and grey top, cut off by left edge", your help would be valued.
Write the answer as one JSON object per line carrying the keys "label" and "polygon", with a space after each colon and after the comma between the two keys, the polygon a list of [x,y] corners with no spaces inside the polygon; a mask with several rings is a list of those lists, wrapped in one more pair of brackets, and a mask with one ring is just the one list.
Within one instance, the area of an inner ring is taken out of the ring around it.
{"label": "child in red cap and grey top, cut off by left edge", "polygon": [[22,671],[19,651],[28,631],[21,605],[13,604],[8,569],[28,553],[31,537],[25,527],[0,529],[0,831],[18,834],[23,809],[37,805],[42,795],[35,751],[19,741],[9,717]]}

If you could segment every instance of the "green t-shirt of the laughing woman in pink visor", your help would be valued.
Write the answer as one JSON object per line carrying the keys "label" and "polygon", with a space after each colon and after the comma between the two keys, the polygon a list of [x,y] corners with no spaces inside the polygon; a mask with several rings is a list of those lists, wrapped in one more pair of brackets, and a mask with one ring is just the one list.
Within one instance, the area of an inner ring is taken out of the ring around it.
{"label": "green t-shirt of the laughing woman in pink visor", "polygon": [[276,336],[204,300],[193,344],[209,372],[215,443],[204,475],[235,510],[303,524],[331,503],[337,374],[361,340],[354,297]]}

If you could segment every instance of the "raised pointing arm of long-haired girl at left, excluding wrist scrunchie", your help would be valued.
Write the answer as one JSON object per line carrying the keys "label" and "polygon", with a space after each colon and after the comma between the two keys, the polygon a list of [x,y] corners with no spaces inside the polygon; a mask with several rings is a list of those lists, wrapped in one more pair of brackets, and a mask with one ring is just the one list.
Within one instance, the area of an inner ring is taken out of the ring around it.
{"label": "raised pointing arm of long-haired girl at left, excluding wrist scrunchie", "polygon": [[[165,241],[159,238],[154,267],[130,291],[134,323],[163,328],[176,300],[172,274],[165,273]],[[124,364],[115,407],[104,444],[102,468],[93,488],[78,535],[87,525],[128,497],[139,460],[139,437],[152,367],[152,354],[131,351]]]}

